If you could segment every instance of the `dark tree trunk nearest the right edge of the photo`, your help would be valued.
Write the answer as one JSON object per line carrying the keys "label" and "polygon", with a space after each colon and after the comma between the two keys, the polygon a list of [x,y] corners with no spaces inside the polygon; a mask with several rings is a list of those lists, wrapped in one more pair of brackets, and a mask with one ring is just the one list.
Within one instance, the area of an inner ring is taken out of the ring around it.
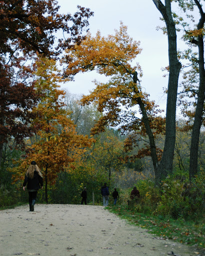
{"label": "dark tree trunk nearest the right edge of the photo", "polygon": [[[201,17],[197,26],[197,29],[203,27],[204,14],[201,13]],[[197,94],[197,103],[194,115],[193,129],[191,135],[190,145],[190,162],[189,162],[189,180],[197,174],[198,168],[198,143],[200,135],[200,127],[202,123],[203,104],[204,104],[204,93],[205,93],[205,70],[204,70],[204,46],[203,37],[198,36],[198,40],[194,41],[198,46],[198,66],[199,66],[199,87]]]}

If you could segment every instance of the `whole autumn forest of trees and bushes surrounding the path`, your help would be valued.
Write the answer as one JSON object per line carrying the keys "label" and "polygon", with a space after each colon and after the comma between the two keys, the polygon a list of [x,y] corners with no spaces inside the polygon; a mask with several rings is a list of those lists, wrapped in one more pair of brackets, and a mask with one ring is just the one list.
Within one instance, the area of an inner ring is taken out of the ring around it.
{"label": "whole autumn forest of trees and bushes surrounding the path", "polygon": [[[93,35],[89,8],[61,14],[55,0],[0,1],[0,209],[27,203],[22,182],[35,160],[38,203],[79,204],[86,187],[88,204],[102,205],[106,182],[109,205],[119,192],[118,211],[203,219],[204,1],[152,3],[168,42],[165,111],[144,89],[135,62],[143,45],[122,21]],[[86,72],[107,81],[95,79],[88,95],[63,89]],[[140,199],[127,205],[133,186]]]}

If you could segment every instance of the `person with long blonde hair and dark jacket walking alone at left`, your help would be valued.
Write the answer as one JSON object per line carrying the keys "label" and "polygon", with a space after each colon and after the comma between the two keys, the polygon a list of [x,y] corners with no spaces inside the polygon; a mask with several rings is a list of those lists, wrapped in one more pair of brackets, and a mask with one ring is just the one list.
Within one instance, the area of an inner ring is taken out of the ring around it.
{"label": "person with long blonde hair and dark jacket walking alone at left", "polygon": [[42,188],[42,174],[35,161],[31,161],[27,172],[25,174],[23,182],[23,190],[25,191],[25,185],[27,184],[28,190],[28,202],[30,211],[34,210],[34,204],[36,200],[37,190]]}

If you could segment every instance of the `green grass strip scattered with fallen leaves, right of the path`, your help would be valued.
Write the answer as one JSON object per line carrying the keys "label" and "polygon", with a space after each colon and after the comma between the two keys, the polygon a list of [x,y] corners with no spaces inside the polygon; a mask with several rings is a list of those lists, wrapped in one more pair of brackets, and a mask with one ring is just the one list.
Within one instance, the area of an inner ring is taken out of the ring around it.
{"label": "green grass strip scattered with fallen leaves, right of the path", "polygon": [[205,248],[204,243],[204,219],[184,220],[172,219],[166,216],[153,216],[135,212],[127,206],[108,206],[107,209],[126,219],[131,224],[145,228],[149,233],[163,239],[171,239],[180,243],[195,245],[200,249]]}

